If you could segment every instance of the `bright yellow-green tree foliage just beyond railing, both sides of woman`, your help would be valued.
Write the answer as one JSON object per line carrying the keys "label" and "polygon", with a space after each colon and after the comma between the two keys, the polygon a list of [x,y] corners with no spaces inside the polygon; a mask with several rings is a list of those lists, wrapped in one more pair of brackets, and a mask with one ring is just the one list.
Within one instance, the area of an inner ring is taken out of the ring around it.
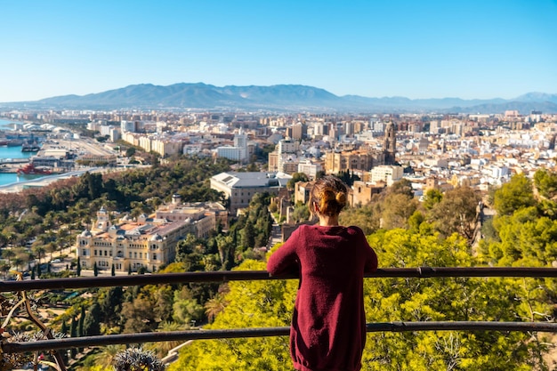
{"label": "bright yellow-green tree foliage just beyond railing, both sides of woman", "polygon": [[[427,230],[427,229],[425,229]],[[464,238],[441,239],[408,230],[368,237],[381,267],[470,267]],[[239,270],[264,270],[248,261]],[[208,328],[288,326],[297,280],[230,283],[229,305]],[[367,322],[437,320],[530,320],[547,311],[528,280],[516,278],[368,278]],[[532,300],[534,299],[535,300]],[[539,319],[539,318],[537,318]],[[527,370],[544,348],[531,335],[499,332],[369,333],[362,370]],[[287,337],[196,341],[184,347],[169,371],[292,370]]]}

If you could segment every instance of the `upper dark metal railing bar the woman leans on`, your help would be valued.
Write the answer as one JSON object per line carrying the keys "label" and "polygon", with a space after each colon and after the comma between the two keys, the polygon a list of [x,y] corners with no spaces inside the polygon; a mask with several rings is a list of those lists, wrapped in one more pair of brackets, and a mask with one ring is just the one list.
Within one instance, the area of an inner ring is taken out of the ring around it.
{"label": "upper dark metal railing bar the woman leans on", "polygon": [[[557,278],[557,268],[384,268],[367,273],[366,278],[432,278],[432,277],[537,277]],[[298,278],[295,274],[271,277],[265,270],[221,270],[212,272],[163,273],[110,277],[75,277],[28,279],[0,282],[0,293],[28,290],[91,288],[107,286],[162,285],[188,282],[228,282],[261,279]]]}

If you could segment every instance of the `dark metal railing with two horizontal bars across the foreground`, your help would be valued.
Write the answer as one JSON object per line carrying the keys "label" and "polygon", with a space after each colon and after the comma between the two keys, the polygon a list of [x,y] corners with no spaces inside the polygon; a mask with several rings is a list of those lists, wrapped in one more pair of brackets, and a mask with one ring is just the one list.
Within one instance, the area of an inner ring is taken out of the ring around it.
{"label": "dark metal railing with two horizontal bars across the foreground", "polygon": [[[488,278],[524,277],[557,278],[557,268],[388,268],[365,275],[366,278]],[[53,278],[25,281],[2,281],[0,293],[29,290],[53,290],[67,288],[91,288],[107,286],[163,285],[198,282],[229,282],[238,280],[294,279],[295,274],[271,277],[264,270],[232,270],[215,272],[186,272],[146,274],[133,276],[95,278]],[[538,331],[557,333],[557,323],[552,322],[491,322],[491,321],[427,321],[367,323],[367,332],[406,331]],[[61,350],[125,343],[151,343],[188,341],[201,339],[225,339],[238,337],[264,337],[288,335],[289,327],[259,327],[220,330],[187,330],[141,334],[82,336],[49,339],[28,343],[4,343],[2,351],[20,353],[26,351]]]}

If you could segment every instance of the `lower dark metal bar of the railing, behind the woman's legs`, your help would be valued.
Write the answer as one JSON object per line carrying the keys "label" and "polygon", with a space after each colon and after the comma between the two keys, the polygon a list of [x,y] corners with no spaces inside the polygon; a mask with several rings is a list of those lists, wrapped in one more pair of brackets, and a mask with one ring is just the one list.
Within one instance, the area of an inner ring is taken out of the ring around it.
{"label": "lower dark metal bar of the railing, behind the woman's legs", "polygon": [[[368,323],[367,332],[408,331],[519,331],[557,333],[557,323],[550,322],[491,322],[491,321],[439,321],[439,322],[379,322]],[[187,330],[160,333],[83,336],[40,340],[27,343],[4,343],[4,353],[47,351],[69,348],[87,348],[113,344],[157,343],[188,340],[231,339],[246,337],[287,336],[290,327],[258,327],[223,330]]]}

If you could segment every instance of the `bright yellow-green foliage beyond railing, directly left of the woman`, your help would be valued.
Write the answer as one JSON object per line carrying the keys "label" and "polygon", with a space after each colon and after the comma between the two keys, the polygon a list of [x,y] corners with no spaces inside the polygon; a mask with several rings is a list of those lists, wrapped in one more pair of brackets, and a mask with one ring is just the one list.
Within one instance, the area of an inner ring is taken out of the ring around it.
{"label": "bright yellow-green foliage beyond railing, directly left of the woman", "polygon": [[[238,270],[264,270],[264,262],[246,261]],[[229,305],[205,328],[284,327],[294,310],[295,280],[230,282]],[[292,370],[288,338],[264,337],[196,341],[181,351],[168,371]]]}

